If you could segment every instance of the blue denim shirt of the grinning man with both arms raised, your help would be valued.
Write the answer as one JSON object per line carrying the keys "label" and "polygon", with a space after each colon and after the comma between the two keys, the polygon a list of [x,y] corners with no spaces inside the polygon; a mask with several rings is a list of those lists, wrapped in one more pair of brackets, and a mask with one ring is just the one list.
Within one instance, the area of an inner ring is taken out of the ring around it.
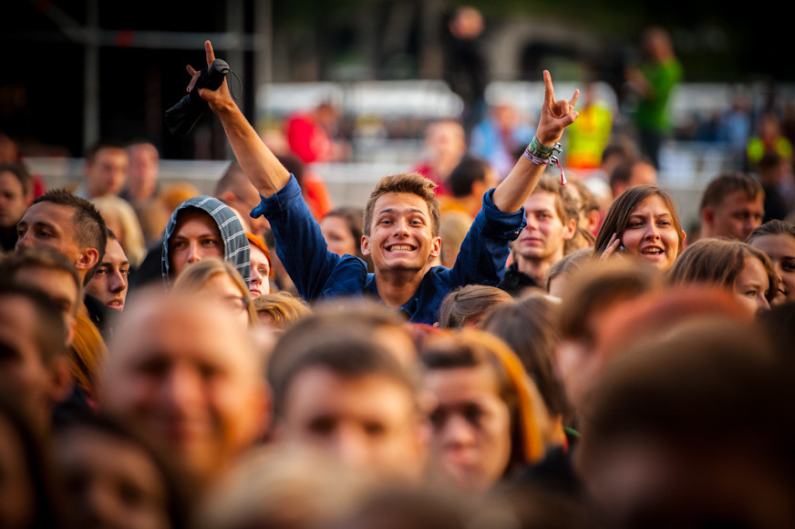
{"label": "blue denim shirt of the grinning man with both arms raised", "polygon": [[[410,322],[437,323],[442,300],[459,286],[500,285],[510,253],[509,244],[526,222],[524,208],[515,213],[497,209],[491,201],[492,192],[483,195],[483,207],[461,244],[455,265],[431,268],[414,296],[400,307]],[[305,300],[311,303],[363,295],[380,299],[376,276],[367,273],[364,261],[354,255],[340,257],[328,251],[320,225],[306,206],[294,177],[272,197],[260,197],[251,216],[260,215],[271,224],[276,253],[298,294]]]}

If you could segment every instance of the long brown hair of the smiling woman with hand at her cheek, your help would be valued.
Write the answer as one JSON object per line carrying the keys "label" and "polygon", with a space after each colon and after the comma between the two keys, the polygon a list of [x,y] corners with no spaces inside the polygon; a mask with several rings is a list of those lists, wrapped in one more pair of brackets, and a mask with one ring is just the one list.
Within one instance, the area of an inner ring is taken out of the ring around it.
{"label": "long brown hair of the smiling woman with hand at her cheek", "polygon": [[682,233],[682,223],[679,221],[679,214],[676,213],[674,199],[656,185],[636,185],[618,195],[613,203],[610,204],[610,208],[604,215],[604,223],[602,223],[602,227],[599,228],[599,233],[596,235],[594,257],[598,257],[604,252],[607,244],[610,243],[610,237],[613,233],[618,233],[619,238],[624,234],[627,225],[629,225],[630,217],[635,213],[635,208],[645,199],[654,195],[662,199],[666,204],[668,213],[671,214],[671,222],[674,224],[676,236],[679,240],[678,253],[682,252],[685,244],[685,234]]}

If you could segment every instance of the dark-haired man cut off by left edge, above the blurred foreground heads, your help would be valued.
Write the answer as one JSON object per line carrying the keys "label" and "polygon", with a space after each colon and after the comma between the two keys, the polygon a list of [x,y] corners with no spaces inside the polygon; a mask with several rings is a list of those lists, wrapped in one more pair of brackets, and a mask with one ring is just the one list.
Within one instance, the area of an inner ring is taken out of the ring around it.
{"label": "dark-haired man cut off by left edge, above the blurred foreground heads", "polygon": [[33,179],[22,163],[0,163],[0,251],[16,244],[16,223],[33,202]]}

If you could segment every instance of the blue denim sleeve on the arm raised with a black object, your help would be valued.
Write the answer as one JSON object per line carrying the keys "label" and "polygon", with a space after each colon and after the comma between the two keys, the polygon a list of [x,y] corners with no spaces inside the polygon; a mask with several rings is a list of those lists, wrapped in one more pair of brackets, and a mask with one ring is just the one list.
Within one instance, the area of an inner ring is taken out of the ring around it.
{"label": "blue denim sleeve on the arm raised with a black object", "polygon": [[[271,224],[276,254],[301,297],[314,301],[324,293],[356,294],[354,278],[367,275],[364,261],[349,255],[341,258],[328,251],[320,225],[304,202],[301,187],[294,177],[272,197],[260,197],[251,216],[260,215]],[[342,276],[349,281],[339,281]],[[358,289],[360,291],[360,285]]]}

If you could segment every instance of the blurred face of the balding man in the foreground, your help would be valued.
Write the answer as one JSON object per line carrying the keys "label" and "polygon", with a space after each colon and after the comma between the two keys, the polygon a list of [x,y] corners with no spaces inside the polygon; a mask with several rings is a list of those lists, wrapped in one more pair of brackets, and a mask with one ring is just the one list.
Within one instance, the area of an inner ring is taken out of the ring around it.
{"label": "blurred face of the balding man in the foreground", "polygon": [[101,406],[138,425],[197,482],[265,426],[262,367],[239,322],[205,296],[144,299],[109,347]]}

